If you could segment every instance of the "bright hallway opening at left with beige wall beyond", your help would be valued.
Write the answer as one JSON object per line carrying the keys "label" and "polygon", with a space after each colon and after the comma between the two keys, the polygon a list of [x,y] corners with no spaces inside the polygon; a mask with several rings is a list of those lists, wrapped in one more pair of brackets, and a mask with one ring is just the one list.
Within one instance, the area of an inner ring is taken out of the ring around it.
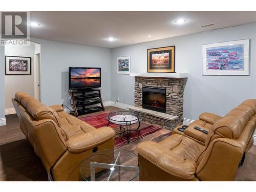
{"label": "bright hallway opening at left with beige wall beyond", "polygon": [[[27,46],[5,45],[5,56],[12,58],[5,63],[6,68],[14,66],[13,74],[5,75],[5,114],[15,114],[12,98],[16,92],[22,91],[40,100],[40,50],[37,42],[30,41]],[[15,63],[14,63],[15,62]],[[23,65],[23,66],[22,66]],[[25,66],[24,66],[25,65]],[[19,68],[28,73],[21,74]],[[15,69],[14,69],[15,68]],[[10,68],[11,69],[11,68]],[[15,71],[16,70],[16,71]]]}

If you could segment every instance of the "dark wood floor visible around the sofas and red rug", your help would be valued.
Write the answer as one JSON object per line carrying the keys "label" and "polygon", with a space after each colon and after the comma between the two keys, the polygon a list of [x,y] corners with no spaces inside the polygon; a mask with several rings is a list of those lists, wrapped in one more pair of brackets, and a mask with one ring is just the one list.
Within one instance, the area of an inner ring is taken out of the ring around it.
{"label": "dark wood floor visible around the sofas and red rug", "polygon": [[[106,111],[119,111],[107,107]],[[102,113],[102,112],[97,112]],[[92,114],[90,114],[92,115]],[[0,127],[0,181],[47,181],[47,173],[40,159],[35,155],[30,143],[19,129],[16,115],[7,116],[7,125]],[[144,140],[164,139],[165,131],[147,135],[142,140],[120,148],[134,151],[135,146]],[[256,181],[256,146],[253,145],[238,170],[237,181]]]}

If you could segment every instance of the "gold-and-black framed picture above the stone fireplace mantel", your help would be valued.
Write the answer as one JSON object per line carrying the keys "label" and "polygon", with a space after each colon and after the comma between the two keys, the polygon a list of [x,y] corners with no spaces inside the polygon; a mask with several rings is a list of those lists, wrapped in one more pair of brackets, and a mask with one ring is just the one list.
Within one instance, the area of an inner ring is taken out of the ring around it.
{"label": "gold-and-black framed picture above the stone fireplace mantel", "polygon": [[175,72],[175,46],[147,50],[147,72]]}

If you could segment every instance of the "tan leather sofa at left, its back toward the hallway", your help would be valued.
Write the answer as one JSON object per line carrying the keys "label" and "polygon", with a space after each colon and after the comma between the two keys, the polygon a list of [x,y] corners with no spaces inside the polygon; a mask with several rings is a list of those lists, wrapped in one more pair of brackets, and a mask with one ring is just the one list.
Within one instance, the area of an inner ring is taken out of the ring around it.
{"label": "tan leather sofa at left, its back toward the hallway", "polygon": [[62,106],[48,107],[24,92],[16,93],[12,101],[20,129],[54,181],[82,180],[82,161],[97,150],[114,148],[111,127],[96,129]]}

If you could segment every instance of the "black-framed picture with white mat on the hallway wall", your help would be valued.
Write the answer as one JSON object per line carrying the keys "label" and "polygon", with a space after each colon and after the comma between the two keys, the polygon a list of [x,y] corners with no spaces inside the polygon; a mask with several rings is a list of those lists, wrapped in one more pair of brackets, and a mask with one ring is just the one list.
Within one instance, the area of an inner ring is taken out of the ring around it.
{"label": "black-framed picture with white mat on the hallway wall", "polygon": [[5,56],[6,75],[31,75],[31,57]]}

